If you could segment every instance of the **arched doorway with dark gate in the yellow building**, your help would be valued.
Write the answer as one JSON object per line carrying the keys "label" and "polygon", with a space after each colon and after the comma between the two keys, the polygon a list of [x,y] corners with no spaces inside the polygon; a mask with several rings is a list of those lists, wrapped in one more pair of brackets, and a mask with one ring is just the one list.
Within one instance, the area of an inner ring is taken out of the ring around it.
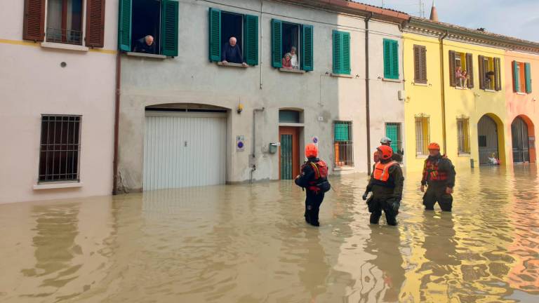
{"label": "arched doorway with dark gate in the yellow building", "polygon": [[494,119],[484,115],[477,123],[477,142],[479,144],[479,165],[488,165],[488,158],[500,159],[498,126]]}

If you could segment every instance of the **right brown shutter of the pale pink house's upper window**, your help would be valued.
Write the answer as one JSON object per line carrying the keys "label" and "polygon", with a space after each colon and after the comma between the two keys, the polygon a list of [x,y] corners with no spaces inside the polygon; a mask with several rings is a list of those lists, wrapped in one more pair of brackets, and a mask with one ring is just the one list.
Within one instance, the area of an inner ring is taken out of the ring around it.
{"label": "right brown shutter of the pale pink house's upper window", "polygon": [[86,46],[102,48],[105,36],[105,0],[86,0]]}

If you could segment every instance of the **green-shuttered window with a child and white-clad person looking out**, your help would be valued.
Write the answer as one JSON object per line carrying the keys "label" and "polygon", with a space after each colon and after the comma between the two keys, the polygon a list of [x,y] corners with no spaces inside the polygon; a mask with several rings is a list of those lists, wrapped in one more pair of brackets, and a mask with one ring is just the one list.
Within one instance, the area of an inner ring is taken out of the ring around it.
{"label": "green-shuttered window with a child and white-clad person looking out", "polygon": [[[295,53],[295,58],[294,58]],[[286,55],[291,54],[291,62]],[[272,67],[302,69],[310,72],[313,62],[313,27],[272,20]]]}

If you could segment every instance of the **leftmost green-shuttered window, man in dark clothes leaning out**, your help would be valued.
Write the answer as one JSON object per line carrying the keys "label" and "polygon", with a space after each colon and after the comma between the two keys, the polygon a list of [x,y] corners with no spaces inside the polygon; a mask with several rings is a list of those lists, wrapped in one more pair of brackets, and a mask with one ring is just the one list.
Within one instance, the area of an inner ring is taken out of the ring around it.
{"label": "leftmost green-shuttered window, man in dark clothes leaning out", "polygon": [[119,0],[119,4],[120,50],[178,55],[178,1]]}

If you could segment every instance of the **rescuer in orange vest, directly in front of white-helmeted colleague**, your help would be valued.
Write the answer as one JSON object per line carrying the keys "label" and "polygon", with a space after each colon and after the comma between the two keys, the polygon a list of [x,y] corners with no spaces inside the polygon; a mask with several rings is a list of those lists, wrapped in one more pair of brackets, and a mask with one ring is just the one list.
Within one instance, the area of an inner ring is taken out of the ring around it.
{"label": "rescuer in orange vest, directly in front of white-helmeted colleague", "polygon": [[378,224],[383,210],[387,224],[397,225],[397,214],[401,206],[404,184],[402,169],[397,161],[392,160],[391,147],[381,145],[377,150],[380,162],[375,163],[373,167],[371,180],[368,182],[363,200],[367,200],[368,193],[372,191],[373,195],[367,200],[371,224]]}

